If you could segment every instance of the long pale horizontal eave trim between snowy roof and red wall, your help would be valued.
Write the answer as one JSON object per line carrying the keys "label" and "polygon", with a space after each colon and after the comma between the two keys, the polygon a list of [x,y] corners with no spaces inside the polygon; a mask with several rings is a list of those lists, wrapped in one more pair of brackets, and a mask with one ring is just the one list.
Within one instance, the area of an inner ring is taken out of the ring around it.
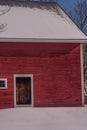
{"label": "long pale horizontal eave trim between snowy roof and red wall", "polygon": [[37,39],[37,38],[0,38],[0,42],[32,43],[87,43],[87,39]]}

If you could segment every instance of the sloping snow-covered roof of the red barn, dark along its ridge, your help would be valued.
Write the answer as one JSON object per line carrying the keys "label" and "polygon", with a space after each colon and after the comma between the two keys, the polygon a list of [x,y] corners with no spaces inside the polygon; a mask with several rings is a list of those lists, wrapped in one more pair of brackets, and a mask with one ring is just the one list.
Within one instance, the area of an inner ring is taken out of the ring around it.
{"label": "sloping snow-covered roof of the red barn, dark along its ridge", "polygon": [[87,40],[57,3],[0,6],[0,40]]}

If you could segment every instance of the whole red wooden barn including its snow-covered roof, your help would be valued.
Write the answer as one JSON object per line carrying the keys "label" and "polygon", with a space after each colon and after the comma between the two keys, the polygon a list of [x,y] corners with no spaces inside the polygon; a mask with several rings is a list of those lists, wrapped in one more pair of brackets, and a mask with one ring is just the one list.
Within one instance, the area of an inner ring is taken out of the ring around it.
{"label": "whole red wooden barn including its snow-covered roof", "polygon": [[1,6],[0,108],[84,105],[87,37],[57,3],[20,5]]}

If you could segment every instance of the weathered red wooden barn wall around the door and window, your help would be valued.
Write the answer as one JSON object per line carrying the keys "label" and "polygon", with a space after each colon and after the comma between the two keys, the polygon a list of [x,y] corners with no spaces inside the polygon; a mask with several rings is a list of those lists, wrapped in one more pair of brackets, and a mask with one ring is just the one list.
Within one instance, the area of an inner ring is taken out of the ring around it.
{"label": "weathered red wooden barn wall around the door and window", "polygon": [[14,107],[14,74],[33,74],[34,106],[81,106],[80,44],[0,43],[0,108]]}

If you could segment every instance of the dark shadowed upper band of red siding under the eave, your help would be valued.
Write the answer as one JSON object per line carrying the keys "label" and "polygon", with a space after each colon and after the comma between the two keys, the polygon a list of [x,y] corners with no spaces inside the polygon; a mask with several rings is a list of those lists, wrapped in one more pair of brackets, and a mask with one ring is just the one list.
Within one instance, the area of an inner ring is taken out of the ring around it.
{"label": "dark shadowed upper band of red siding under the eave", "polygon": [[[72,44],[72,45],[71,45]],[[77,44],[73,43],[0,43],[0,56],[44,57],[66,54]]]}

